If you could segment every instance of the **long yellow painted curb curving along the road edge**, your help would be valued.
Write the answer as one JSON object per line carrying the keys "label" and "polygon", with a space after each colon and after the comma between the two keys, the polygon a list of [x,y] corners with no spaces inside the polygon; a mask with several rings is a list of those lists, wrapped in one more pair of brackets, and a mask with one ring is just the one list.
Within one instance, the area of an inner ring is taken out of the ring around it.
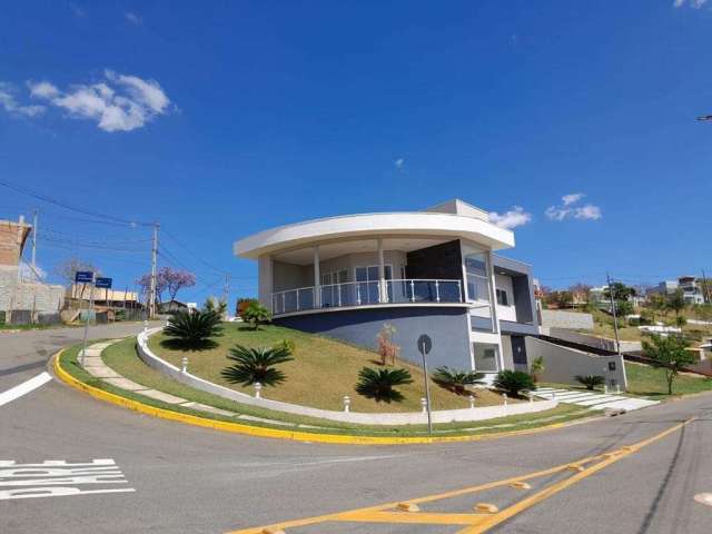
{"label": "long yellow painted curb curving along the road edge", "polygon": [[170,409],[157,408],[148,404],[132,400],[130,398],[115,395],[113,393],[105,392],[98,387],[90,386],[83,382],[75,378],[67,373],[60,365],[60,356],[63,349],[53,356],[52,367],[55,374],[63,383],[71,387],[79,389],[80,392],[88,393],[95,398],[106,400],[111,404],[123,406],[125,408],[140,412],[142,414],[152,415],[162,419],[178,421],[180,423],[187,423],[189,425],[202,426],[206,428],[212,428],[216,431],[231,432],[237,434],[246,434],[256,437],[274,437],[278,439],[291,439],[297,442],[312,442],[312,443],[328,443],[337,445],[416,445],[428,443],[456,443],[456,442],[481,442],[486,439],[496,439],[500,437],[508,436],[522,436],[528,434],[537,434],[541,432],[554,431],[567,426],[566,423],[552,423],[551,425],[540,426],[536,428],[525,428],[522,431],[500,432],[493,434],[482,435],[465,435],[465,436],[404,436],[404,437],[385,437],[385,436],[356,436],[347,434],[313,434],[309,432],[300,431],[284,431],[278,428],[267,428],[261,426],[245,425],[241,423],[230,423],[225,421],[208,419],[196,415],[181,414],[179,412],[172,412]]}

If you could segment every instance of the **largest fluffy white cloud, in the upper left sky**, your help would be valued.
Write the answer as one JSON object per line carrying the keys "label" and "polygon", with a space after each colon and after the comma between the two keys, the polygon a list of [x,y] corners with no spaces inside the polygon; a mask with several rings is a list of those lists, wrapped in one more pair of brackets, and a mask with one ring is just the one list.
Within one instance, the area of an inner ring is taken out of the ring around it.
{"label": "largest fluffy white cloud, in the upper left sky", "polygon": [[60,91],[49,81],[28,82],[30,95],[65,109],[69,117],[95,120],[105,131],[131,131],[168,111],[170,100],[154,80],[105,71],[105,81]]}

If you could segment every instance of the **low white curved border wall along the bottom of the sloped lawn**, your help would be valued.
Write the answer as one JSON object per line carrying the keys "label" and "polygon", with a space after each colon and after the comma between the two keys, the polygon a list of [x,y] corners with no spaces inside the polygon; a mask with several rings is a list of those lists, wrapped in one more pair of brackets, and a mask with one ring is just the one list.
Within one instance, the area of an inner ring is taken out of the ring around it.
{"label": "low white curved border wall along the bottom of the sloped lawn", "polygon": [[[172,379],[194,387],[201,392],[210,393],[236,403],[274,409],[287,414],[316,417],[320,419],[338,421],[342,423],[354,423],[359,425],[424,425],[427,423],[427,415],[421,412],[399,414],[367,414],[359,412],[335,412],[329,409],[312,408],[298,404],[283,403],[267,398],[255,398],[228,387],[219,386],[190,373],[182,373],[178,367],[159,358],[148,348],[148,338],[160,332],[162,328],[151,328],[141,332],[137,336],[137,350],[141,360],[149,367],[170,376]],[[434,423],[474,422],[504,417],[507,415],[531,414],[544,412],[556,407],[556,400],[535,400],[533,403],[510,404],[507,406],[483,406],[463,409],[446,409],[433,412]]]}

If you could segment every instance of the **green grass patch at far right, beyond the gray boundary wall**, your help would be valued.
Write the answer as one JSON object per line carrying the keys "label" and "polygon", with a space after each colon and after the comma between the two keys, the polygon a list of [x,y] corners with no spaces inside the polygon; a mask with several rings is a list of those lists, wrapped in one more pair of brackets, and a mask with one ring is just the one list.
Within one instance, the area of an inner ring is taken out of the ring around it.
{"label": "green grass patch at far right, beyond the gray boundary wall", "polygon": [[[625,363],[627,393],[651,398],[666,398],[665,370],[634,362]],[[678,375],[672,385],[673,396],[712,390],[712,379],[693,374]]]}

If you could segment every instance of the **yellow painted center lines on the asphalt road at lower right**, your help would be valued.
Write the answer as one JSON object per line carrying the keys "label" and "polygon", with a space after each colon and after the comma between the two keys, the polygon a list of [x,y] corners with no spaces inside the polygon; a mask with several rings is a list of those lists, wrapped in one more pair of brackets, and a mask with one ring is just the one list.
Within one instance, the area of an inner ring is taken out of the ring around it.
{"label": "yellow painted center lines on the asphalt road at lower right", "polygon": [[305,517],[301,520],[293,520],[286,521],[283,523],[275,523],[271,525],[257,526],[250,528],[244,528],[238,531],[230,531],[226,534],[260,534],[266,528],[273,530],[286,530],[298,526],[307,526],[314,525],[318,523],[326,523],[330,521],[336,522],[372,522],[372,523],[409,523],[409,524],[448,524],[448,525],[467,525],[466,528],[461,531],[462,534],[476,534],[483,533],[487,530],[492,528],[500,523],[513,517],[514,515],[534,506],[535,504],[555,495],[556,493],[565,490],[566,487],[575,484],[587,476],[607,467],[609,465],[631,455],[640,451],[641,448],[654,443],[663,437],[672,434],[673,432],[679,431],[684,425],[694,421],[695,417],[692,417],[683,423],[672,426],[660,434],[656,434],[647,439],[642,442],[624,446],[617,451],[612,453],[603,453],[596,456],[589,456],[585,458],[577,459],[575,462],[568,462],[566,464],[557,465],[555,467],[550,467],[547,469],[537,471],[534,473],[528,473],[521,476],[513,476],[510,478],[505,478],[496,482],[488,482],[485,484],[479,484],[476,486],[469,486],[461,490],[454,490],[451,492],[438,493],[434,495],[427,495],[424,497],[407,500],[405,502],[412,504],[422,504],[434,501],[442,501],[445,498],[457,497],[462,495],[467,495],[472,493],[483,492],[486,490],[492,490],[500,486],[505,486],[512,484],[514,482],[523,482],[530,481],[533,478],[543,477],[546,475],[552,475],[562,472],[571,472],[572,465],[585,466],[586,464],[592,464],[589,467],[584,467],[584,471],[574,472],[570,477],[558,483],[554,483],[541,492],[526,497],[516,504],[498,512],[496,514],[438,514],[438,513],[423,513],[423,512],[386,512],[388,510],[397,508],[398,504],[404,502],[394,502],[394,503],[385,503],[376,506],[367,506],[363,508],[355,508],[345,512],[336,512],[333,514],[318,515],[314,517]]}

